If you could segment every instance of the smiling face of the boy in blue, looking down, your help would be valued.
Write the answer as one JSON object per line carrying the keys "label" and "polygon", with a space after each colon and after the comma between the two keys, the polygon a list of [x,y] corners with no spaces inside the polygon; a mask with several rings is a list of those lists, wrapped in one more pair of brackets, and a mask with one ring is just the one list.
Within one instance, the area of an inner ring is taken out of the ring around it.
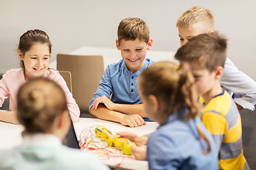
{"label": "smiling face of the boy in blue, looking down", "polygon": [[122,59],[126,63],[126,67],[129,72],[137,72],[144,66],[144,59],[146,57],[146,50],[151,49],[152,40],[148,43],[143,40],[121,40],[120,44],[118,40],[117,49],[121,51]]}

